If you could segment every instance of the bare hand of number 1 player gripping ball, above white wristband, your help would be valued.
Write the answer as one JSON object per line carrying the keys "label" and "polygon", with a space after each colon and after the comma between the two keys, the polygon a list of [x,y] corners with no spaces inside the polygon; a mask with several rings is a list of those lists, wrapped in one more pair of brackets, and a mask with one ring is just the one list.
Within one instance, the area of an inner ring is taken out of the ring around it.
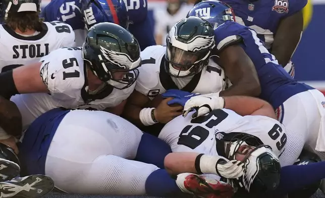
{"label": "bare hand of number 1 player gripping ball, above white wristband", "polygon": [[157,108],[154,110],[154,117],[159,123],[166,124],[173,120],[175,117],[182,115],[182,106],[169,106],[167,103],[173,100],[172,97],[168,97],[160,102]]}

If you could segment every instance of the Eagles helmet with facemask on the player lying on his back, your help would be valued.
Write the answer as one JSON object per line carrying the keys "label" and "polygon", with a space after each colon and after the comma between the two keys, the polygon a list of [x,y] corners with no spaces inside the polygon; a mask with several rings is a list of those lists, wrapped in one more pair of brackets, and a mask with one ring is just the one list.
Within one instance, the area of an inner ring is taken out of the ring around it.
{"label": "Eagles helmet with facemask on the player lying on his back", "polygon": [[279,159],[272,148],[262,144],[257,137],[234,136],[227,144],[225,153],[229,160],[235,160],[236,154],[245,155],[243,159],[236,159],[244,163],[244,175],[234,181],[240,187],[248,192],[265,192],[278,187],[281,170]]}

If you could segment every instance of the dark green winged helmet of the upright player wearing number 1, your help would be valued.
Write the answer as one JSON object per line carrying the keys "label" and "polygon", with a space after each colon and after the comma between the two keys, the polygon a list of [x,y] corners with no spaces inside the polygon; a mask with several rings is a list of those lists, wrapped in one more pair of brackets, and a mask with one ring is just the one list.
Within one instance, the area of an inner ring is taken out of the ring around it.
{"label": "dark green winged helmet of the upright player wearing number 1", "polygon": [[183,78],[199,73],[215,47],[214,31],[206,20],[188,17],[177,22],[166,39],[166,71]]}

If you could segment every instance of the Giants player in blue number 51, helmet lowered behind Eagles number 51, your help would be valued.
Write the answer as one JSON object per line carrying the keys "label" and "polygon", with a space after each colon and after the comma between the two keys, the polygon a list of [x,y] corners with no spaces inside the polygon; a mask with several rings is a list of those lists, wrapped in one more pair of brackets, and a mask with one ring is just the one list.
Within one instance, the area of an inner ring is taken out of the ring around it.
{"label": "Giants player in blue number 51, helmet lowered behind Eagles number 51", "polygon": [[101,22],[116,23],[128,29],[141,50],[155,45],[147,15],[147,0],[53,0],[43,10],[45,21],[63,21],[72,26],[76,43],[81,46],[87,29]]}

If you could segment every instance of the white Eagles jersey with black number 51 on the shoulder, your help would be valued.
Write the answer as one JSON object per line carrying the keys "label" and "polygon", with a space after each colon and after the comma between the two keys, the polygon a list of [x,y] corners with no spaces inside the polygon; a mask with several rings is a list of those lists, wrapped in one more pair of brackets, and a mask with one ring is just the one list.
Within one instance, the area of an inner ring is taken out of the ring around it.
{"label": "white Eagles jersey with black number 51 on the shoulder", "polygon": [[41,114],[58,107],[97,110],[115,107],[128,98],[135,86],[122,90],[106,86],[98,94],[89,94],[81,47],[60,48],[40,62],[43,62],[40,76],[49,94],[18,94],[11,98],[22,114],[24,129]]}

